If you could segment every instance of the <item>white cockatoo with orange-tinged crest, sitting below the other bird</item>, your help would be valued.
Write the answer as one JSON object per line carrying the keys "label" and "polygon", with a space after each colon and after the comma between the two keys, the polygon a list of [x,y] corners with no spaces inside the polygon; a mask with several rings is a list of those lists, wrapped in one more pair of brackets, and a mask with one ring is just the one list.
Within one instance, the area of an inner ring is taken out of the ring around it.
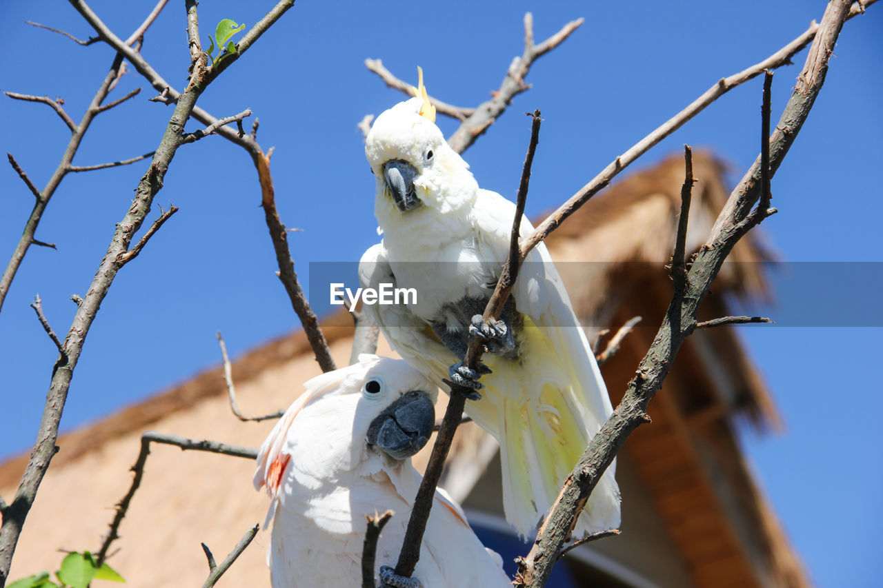
{"label": "white cockatoo with orange-tinged crest, sitting below the other bird", "polygon": [[275,588],[360,586],[366,516],[386,509],[395,515],[377,545],[384,584],[510,585],[500,556],[482,547],[441,491],[413,577],[392,572],[421,480],[410,457],[435,422],[432,382],[401,359],[363,354],[305,386],[261,446],[254,474],[254,486],[272,497],[267,560]]}

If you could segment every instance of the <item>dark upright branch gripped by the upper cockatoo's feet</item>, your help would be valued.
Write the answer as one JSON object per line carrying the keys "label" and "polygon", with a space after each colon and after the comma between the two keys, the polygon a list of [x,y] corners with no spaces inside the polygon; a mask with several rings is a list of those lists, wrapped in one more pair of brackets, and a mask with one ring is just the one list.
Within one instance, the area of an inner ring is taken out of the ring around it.
{"label": "dark upright branch gripped by the upper cockatoo's feet", "polygon": [[[517,254],[518,234],[524,217],[533,155],[536,152],[537,144],[540,142],[541,123],[540,110],[534,110],[532,114],[531,140],[527,147],[525,165],[521,172],[521,182],[518,185],[516,213],[512,219],[512,233],[509,237],[509,258],[502,268],[494,294],[487,301],[487,307],[483,314],[486,321],[496,319],[502,312],[506,298],[509,297],[509,292],[517,280],[518,268],[520,268],[521,263],[524,261],[524,258]],[[465,353],[464,365],[471,367],[473,370],[476,369],[483,351],[484,345],[479,342],[479,339],[472,338]],[[426,472],[423,475],[423,480],[420,482],[417,497],[414,499],[414,504],[411,508],[411,518],[408,520],[408,527],[404,534],[402,551],[399,553],[398,562],[396,562],[396,574],[398,576],[411,577],[419,561],[420,544],[423,541],[426,521],[429,519],[429,512],[433,506],[435,488],[438,486],[439,479],[442,476],[442,469],[448,457],[451,442],[454,440],[454,433],[456,433],[457,426],[460,425],[460,420],[463,417],[466,395],[471,391],[468,388],[453,383],[449,383],[449,386],[450,398],[448,408],[445,410],[444,418],[442,418],[442,426],[435,438],[432,454],[429,456],[428,464],[426,464]]]}

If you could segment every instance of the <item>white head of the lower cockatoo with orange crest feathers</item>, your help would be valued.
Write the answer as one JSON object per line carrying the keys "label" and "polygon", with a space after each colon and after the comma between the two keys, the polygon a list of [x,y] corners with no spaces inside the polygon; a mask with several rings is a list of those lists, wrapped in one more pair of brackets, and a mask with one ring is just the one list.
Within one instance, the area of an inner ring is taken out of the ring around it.
{"label": "white head of the lower cockatoo with orange crest feathers", "polygon": [[305,386],[260,448],[254,482],[271,495],[289,464],[298,486],[315,490],[362,464],[371,473],[400,462],[432,434],[436,388],[402,359],[363,354]]}

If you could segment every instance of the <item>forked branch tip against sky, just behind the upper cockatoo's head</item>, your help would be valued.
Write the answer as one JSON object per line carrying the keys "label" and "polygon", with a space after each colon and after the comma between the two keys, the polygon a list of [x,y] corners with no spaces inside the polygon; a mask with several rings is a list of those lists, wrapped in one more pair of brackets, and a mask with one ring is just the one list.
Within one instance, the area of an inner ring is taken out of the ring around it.
{"label": "forked branch tip against sky, just behind the upper cockatoo's head", "polygon": [[547,54],[550,50],[555,49],[558,45],[567,39],[571,33],[583,24],[584,19],[570,21],[562,27],[560,31],[553,34],[540,45],[533,44],[533,16],[530,12],[525,14],[525,52],[521,57],[516,57],[515,61],[509,65],[506,77],[503,78],[502,84],[493,94],[493,98],[487,102],[479,104],[469,117],[460,124],[457,131],[448,139],[448,144],[454,151],[462,154],[466,149],[472,146],[485,131],[487,127],[494,124],[494,121],[502,115],[509,106],[509,102],[518,94],[530,88],[525,83],[527,72],[530,71],[531,65],[538,58]]}

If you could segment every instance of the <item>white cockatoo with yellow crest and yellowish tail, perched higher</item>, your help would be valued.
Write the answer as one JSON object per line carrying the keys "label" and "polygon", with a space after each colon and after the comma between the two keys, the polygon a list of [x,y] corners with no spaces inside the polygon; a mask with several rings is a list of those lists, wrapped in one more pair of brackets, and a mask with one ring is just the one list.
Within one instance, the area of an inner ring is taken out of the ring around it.
{"label": "white cockatoo with yellow crest and yellowish tail, perched higher", "polygon": [[[509,254],[515,204],[480,189],[449,147],[422,72],[414,91],[377,117],[366,137],[383,239],[358,273],[363,288],[412,288],[417,299],[365,305],[366,312],[392,348],[442,389],[443,379],[480,388],[466,412],[500,442],[506,518],[527,536],[613,409],[546,245],[527,255],[500,320],[482,320]],[[523,217],[521,235],[531,230]],[[483,377],[463,365],[472,336],[489,351]],[[619,526],[614,471],[611,464],[592,492],[577,533]]]}

